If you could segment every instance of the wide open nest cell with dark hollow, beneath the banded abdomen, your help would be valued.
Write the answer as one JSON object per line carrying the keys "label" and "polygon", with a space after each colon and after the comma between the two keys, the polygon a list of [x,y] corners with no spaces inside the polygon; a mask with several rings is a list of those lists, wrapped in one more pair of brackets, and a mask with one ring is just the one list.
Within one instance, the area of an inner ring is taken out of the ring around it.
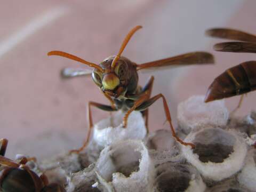
{"label": "wide open nest cell with dark hollow, beneath the banded abdomen", "polygon": [[242,169],[247,153],[246,143],[238,134],[220,128],[190,133],[185,141],[195,143],[196,148],[182,146],[182,153],[206,179],[229,178]]}

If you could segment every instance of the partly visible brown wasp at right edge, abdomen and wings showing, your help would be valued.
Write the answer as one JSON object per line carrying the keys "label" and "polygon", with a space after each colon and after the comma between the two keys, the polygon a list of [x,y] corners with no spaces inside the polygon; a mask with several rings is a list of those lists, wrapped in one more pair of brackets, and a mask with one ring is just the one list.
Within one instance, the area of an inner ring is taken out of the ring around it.
{"label": "partly visible brown wasp at right edge, abdomen and wings showing", "polygon": [[[256,53],[255,35],[225,28],[210,29],[206,31],[206,34],[212,37],[242,41],[215,44],[214,50],[216,51]],[[256,90],[256,61],[246,61],[227,69],[215,78],[206,93],[205,102],[242,94],[236,107],[238,109],[241,106],[243,94],[254,90]]]}

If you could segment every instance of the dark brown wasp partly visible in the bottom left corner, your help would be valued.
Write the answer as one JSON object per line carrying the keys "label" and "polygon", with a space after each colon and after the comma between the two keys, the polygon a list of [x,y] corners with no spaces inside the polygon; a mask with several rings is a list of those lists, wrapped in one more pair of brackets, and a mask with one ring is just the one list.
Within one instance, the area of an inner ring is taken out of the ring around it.
{"label": "dark brown wasp partly visible in the bottom left corner", "polygon": [[66,192],[57,183],[49,184],[45,174],[40,177],[26,163],[28,158],[22,157],[18,162],[4,157],[7,139],[0,140],[0,189],[3,192]]}

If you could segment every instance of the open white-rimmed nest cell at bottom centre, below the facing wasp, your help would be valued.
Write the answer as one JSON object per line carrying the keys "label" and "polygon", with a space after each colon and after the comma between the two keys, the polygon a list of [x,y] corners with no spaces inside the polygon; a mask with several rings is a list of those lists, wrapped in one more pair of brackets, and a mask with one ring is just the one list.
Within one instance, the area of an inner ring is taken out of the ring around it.
{"label": "open white-rimmed nest cell at bottom centre, below the facing wasp", "polygon": [[104,191],[150,191],[154,164],[142,141],[116,142],[101,151],[95,166]]}

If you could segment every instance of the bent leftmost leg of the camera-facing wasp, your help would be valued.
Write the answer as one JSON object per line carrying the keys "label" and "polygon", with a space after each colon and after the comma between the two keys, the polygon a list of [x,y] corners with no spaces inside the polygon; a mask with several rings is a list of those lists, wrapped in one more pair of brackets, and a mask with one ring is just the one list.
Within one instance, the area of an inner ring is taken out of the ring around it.
{"label": "bent leftmost leg of the camera-facing wasp", "polygon": [[92,112],[91,112],[91,106],[93,107],[97,107],[101,110],[105,110],[105,111],[116,111],[117,109],[113,109],[111,106],[108,106],[108,105],[103,105],[101,103],[97,103],[97,102],[93,102],[93,101],[89,101],[88,103],[88,122],[89,122],[89,131],[87,133],[87,136],[86,136],[86,139],[83,143],[83,146],[77,150],[70,150],[69,153],[79,153],[81,152],[89,143],[89,140],[90,140],[90,137],[91,137],[91,132],[92,132],[92,127],[93,127],[93,122],[92,122]]}

